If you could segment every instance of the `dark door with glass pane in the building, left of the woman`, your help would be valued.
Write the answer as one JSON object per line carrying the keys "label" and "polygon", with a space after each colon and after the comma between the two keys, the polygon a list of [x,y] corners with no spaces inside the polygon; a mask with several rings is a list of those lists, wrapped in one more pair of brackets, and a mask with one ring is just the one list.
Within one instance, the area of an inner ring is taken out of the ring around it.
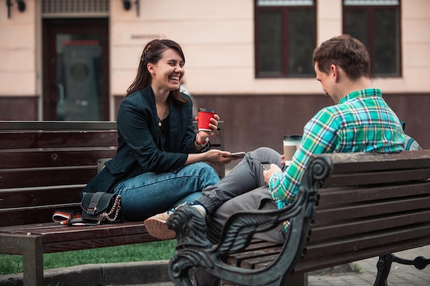
{"label": "dark door with glass pane in the building, left of the woman", "polygon": [[109,120],[108,24],[43,20],[43,120]]}

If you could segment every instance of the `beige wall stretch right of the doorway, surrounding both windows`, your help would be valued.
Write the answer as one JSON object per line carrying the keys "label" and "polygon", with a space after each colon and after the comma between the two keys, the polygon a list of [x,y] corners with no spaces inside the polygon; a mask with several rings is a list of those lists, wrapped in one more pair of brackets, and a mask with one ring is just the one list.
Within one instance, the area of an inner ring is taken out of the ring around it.
{"label": "beige wall stretch right of the doorway, surrounding both windows", "polygon": [[[342,1],[317,1],[317,42],[341,34]],[[376,78],[375,86],[389,93],[430,91],[430,1],[402,1],[403,78]],[[120,5],[120,3],[113,3]],[[135,75],[137,60],[156,34],[177,40],[186,57],[185,81],[190,93],[309,94],[320,93],[314,79],[256,79],[253,59],[253,1],[141,1],[141,16],[113,9],[112,93],[124,93]],[[172,11],[172,12],[171,12]],[[116,58],[116,60],[115,60]],[[120,63],[121,61],[121,63]]]}

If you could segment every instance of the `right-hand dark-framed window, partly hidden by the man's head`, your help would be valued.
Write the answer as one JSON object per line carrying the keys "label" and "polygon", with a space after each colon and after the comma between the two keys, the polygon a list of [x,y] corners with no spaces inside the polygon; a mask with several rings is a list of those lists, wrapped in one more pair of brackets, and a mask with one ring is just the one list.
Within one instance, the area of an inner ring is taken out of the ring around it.
{"label": "right-hand dark-framed window, partly hidden by the man's head", "polygon": [[372,76],[400,76],[400,0],[343,0],[343,33],[367,47]]}

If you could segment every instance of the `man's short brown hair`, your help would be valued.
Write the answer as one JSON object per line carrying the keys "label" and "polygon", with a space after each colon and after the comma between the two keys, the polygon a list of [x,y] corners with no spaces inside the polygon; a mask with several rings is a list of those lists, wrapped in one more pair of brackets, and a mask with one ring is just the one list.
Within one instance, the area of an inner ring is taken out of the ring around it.
{"label": "man's short brown hair", "polygon": [[350,35],[343,34],[322,43],[313,52],[313,63],[315,62],[323,73],[329,73],[330,65],[335,64],[351,80],[362,76],[370,78],[369,53],[363,43]]}

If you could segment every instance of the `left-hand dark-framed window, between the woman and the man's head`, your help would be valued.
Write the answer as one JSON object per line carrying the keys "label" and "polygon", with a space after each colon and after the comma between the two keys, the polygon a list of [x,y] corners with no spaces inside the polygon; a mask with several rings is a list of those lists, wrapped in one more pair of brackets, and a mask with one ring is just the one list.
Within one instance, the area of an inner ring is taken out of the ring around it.
{"label": "left-hand dark-framed window, between the woman and the man's head", "polygon": [[315,0],[256,0],[256,77],[314,77]]}

